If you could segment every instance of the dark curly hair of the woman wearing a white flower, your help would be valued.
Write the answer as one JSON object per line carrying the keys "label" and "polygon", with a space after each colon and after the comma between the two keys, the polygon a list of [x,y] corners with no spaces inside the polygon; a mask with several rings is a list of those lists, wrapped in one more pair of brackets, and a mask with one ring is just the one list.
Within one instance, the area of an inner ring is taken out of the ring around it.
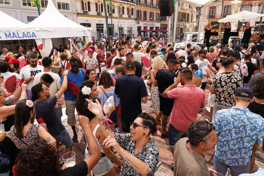
{"label": "dark curly hair of the woman wearing a white flower", "polygon": [[[92,80],[85,80],[84,82],[82,82],[82,84],[80,85],[80,88],[79,88],[79,93],[78,93],[78,97],[77,97],[77,101],[76,101],[76,111],[79,115],[83,115],[83,102],[86,102],[86,98],[90,98],[89,95],[84,95],[82,93],[82,88],[84,86],[87,86],[89,88],[92,88],[93,85],[95,85],[95,82],[93,82]],[[87,107],[86,107],[87,108]]]}

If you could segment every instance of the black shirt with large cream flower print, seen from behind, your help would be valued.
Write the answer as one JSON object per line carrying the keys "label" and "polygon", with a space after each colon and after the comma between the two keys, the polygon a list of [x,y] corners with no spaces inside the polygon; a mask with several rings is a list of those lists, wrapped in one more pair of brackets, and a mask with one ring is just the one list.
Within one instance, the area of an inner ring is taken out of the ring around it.
{"label": "black shirt with large cream flower print, seen from behind", "polygon": [[233,94],[243,86],[241,76],[224,72],[213,77],[211,87],[216,88],[215,103],[224,106],[235,106]]}

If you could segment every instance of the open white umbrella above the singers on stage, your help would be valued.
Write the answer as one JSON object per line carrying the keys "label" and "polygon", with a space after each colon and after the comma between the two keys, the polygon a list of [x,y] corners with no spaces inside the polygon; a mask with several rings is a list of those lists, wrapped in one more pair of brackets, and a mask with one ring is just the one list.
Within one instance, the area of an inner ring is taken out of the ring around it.
{"label": "open white umbrella above the singers on stage", "polygon": [[264,14],[254,13],[254,12],[249,12],[247,10],[243,10],[243,11],[235,13],[233,15],[227,15],[227,17],[222,18],[221,20],[218,20],[218,22],[224,23],[224,22],[228,22],[228,21],[239,21],[239,20],[246,20],[249,18],[263,17],[263,16],[264,16]]}

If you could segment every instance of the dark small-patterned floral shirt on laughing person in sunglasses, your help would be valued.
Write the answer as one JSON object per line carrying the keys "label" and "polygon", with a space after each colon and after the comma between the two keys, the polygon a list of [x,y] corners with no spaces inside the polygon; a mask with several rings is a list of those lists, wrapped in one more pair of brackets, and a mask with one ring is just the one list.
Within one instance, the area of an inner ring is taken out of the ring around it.
{"label": "dark small-patterned floral shirt on laughing person in sunglasses", "polygon": [[[138,153],[135,154],[136,142],[132,141],[130,133],[114,134],[115,139],[123,149],[143,161],[149,167],[150,173],[148,174],[148,176],[154,175],[157,170],[157,164],[159,162],[159,148],[154,143],[154,140],[150,137],[149,143],[147,143],[143,149],[141,149]],[[122,175],[140,176],[141,174],[136,172],[136,170],[130,164],[128,164],[128,162],[126,162],[124,158],[122,158],[120,176]]]}

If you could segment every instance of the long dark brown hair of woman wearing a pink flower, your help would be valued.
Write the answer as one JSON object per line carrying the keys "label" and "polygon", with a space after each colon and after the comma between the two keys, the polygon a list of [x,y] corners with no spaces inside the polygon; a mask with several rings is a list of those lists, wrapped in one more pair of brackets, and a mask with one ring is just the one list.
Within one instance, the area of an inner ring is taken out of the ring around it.
{"label": "long dark brown hair of woman wearing a pink flower", "polygon": [[28,107],[26,105],[27,99],[22,99],[16,104],[15,110],[15,129],[16,129],[16,136],[18,139],[22,139],[23,136],[23,127],[27,125],[30,121],[31,113],[33,113],[34,106]]}

